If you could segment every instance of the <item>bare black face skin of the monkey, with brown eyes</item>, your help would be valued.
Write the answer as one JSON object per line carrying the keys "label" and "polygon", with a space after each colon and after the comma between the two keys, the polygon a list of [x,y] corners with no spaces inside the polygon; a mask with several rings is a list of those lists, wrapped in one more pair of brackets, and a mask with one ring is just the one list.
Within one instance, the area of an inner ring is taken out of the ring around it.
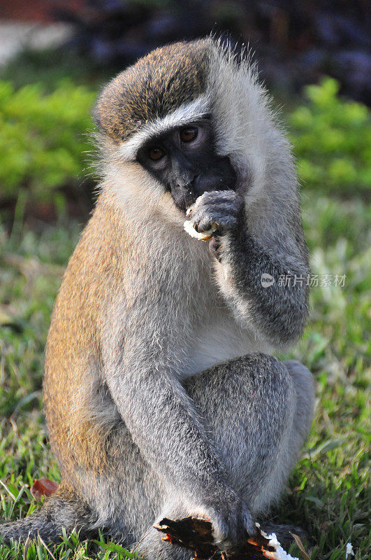
{"label": "bare black face skin of the monkey, with brown eyes", "polygon": [[151,139],[137,160],[186,211],[203,193],[235,190],[236,174],[228,157],[217,155],[210,120],[201,120]]}

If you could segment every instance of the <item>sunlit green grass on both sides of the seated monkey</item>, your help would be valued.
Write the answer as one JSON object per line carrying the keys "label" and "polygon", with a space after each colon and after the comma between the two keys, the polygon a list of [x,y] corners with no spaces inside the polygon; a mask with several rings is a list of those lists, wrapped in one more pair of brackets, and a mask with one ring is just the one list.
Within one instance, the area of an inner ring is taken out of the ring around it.
{"label": "sunlit green grass on both sides of the seated monkey", "polygon": [[[348,201],[303,196],[304,223],[317,274],[347,274],[344,288],[313,288],[310,323],[290,354],[317,379],[314,424],[289,489],[274,515],[307,531],[314,559],[368,558],[368,410],[370,384],[370,209]],[[19,218],[9,237],[0,230],[0,486],[1,519],[36,507],[33,479],[59,481],[41,407],[43,349],[61,272],[80,225],[61,216],[53,227],[32,229]],[[108,546],[108,548],[107,548]],[[113,545],[80,542],[76,535],[50,547],[55,559],[124,559]],[[291,554],[300,556],[296,545]],[[1,560],[47,559],[42,542],[3,547]]]}

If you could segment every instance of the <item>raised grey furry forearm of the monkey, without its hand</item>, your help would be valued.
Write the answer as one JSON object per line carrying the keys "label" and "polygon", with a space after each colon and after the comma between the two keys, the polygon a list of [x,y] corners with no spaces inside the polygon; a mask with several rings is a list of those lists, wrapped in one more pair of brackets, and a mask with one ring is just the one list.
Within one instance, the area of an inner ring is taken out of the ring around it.
{"label": "raised grey furry forearm of the monkey, without its hand", "polygon": [[[225,244],[221,241],[219,258],[226,272],[226,280],[219,280],[221,289],[231,298],[242,323],[246,319],[254,323],[273,344],[289,343],[303,333],[307,318],[307,270],[288,269],[272,258],[247,230],[228,236]],[[265,274],[274,283],[267,285]]]}

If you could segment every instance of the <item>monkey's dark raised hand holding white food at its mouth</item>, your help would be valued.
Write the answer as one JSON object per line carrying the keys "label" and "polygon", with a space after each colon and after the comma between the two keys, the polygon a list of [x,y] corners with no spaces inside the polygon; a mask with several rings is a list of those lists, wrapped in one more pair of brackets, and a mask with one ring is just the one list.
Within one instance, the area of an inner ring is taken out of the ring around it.
{"label": "monkey's dark raised hand holding white food at its mouth", "polygon": [[[245,224],[245,200],[234,190],[203,193],[187,211],[184,229],[197,239],[237,232]],[[193,231],[192,231],[193,230]]]}

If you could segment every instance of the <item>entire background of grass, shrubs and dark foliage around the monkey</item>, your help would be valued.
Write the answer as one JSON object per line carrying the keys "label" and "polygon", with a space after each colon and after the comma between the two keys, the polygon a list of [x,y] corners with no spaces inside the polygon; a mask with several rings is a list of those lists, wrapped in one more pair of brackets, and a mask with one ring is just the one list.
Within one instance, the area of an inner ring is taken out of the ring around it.
{"label": "entire background of grass, shrubs and dark foliage around the monkey", "polygon": [[[31,22],[37,32],[54,33],[53,25],[67,22],[59,45],[27,40],[0,68],[1,519],[38,507],[29,491],[33,479],[59,481],[42,414],[43,350],[61,275],[94,201],[96,94],[157,44],[214,31],[232,42],[250,40],[256,50],[293,144],[312,272],[319,275],[305,335],[288,354],[317,379],[314,425],[271,517],[307,531],[311,559],[345,559],[351,542],[355,558],[365,560],[371,315],[371,127],[368,78],[360,78],[367,67],[365,3],[314,2],[309,10],[307,3],[293,9],[275,1],[201,1],[191,3],[187,19],[175,1],[76,0],[51,3],[52,10],[46,4],[35,2],[32,11],[17,0],[0,20],[0,34],[9,18],[20,29]],[[279,71],[270,73],[272,64]],[[344,286],[335,285],[335,275],[346,276]],[[126,558],[103,537],[92,543],[76,535],[66,535],[52,553]],[[302,557],[296,545],[291,553]],[[0,560],[48,554],[42,542],[26,552],[0,548]]]}

